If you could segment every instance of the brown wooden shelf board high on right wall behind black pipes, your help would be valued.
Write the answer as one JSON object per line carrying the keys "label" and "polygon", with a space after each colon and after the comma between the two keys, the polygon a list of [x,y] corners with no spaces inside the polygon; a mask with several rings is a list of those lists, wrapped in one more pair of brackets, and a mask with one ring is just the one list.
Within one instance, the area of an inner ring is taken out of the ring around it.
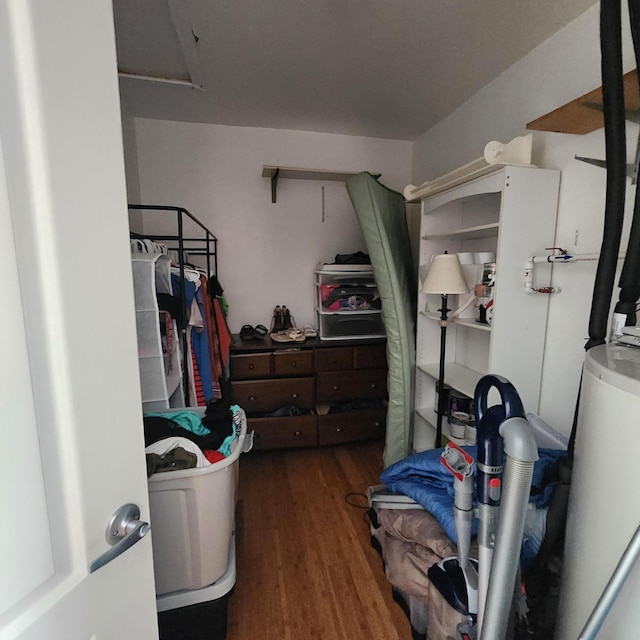
{"label": "brown wooden shelf board high on right wall behind black pipes", "polygon": [[[628,110],[640,109],[640,91],[637,72],[634,69],[624,74],[624,101]],[[555,133],[575,133],[583,135],[604,127],[602,111],[587,105],[602,106],[602,87],[568,102],[532,122],[527,129],[533,131],[553,131]]]}

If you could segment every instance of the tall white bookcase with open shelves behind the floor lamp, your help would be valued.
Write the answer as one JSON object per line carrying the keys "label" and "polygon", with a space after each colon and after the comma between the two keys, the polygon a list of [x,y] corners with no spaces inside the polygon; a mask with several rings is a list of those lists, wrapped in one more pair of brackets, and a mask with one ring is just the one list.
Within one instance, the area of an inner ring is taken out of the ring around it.
{"label": "tall white bookcase with open shelves behind the floor lamp", "polygon": [[[447,328],[445,383],[468,397],[482,376],[495,373],[514,384],[526,411],[538,411],[549,296],[525,291],[524,266],[553,246],[559,183],[559,171],[501,167],[421,201],[419,284],[435,254],[496,255],[491,325],[455,318]],[[536,278],[550,278],[551,269],[544,265]],[[441,299],[418,296],[413,448],[422,451],[435,440]],[[449,307],[457,306],[450,297]],[[450,437],[446,417],[443,435]]]}

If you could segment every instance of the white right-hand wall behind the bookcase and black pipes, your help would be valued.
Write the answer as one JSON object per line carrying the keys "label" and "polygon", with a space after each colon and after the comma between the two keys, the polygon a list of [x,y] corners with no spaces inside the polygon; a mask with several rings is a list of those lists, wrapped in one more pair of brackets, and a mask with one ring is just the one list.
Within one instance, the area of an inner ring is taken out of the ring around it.
{"label": "white right-hand wall behind the bookcase and black pipes", "polygon": [[[623,34],[624,68],[628,71],[635,67],[628,26],[623,26]],[[600,85],[599,5],[596,5],[416,140],[413,183],[420,184],[482,156],[490,140],[506,142],[527,133],[527,122]],[[635,125],[628,134],[632,158],[637,137]],[[574,156],[604,158],[603,130],[584,136],[534,133],[533,155],[535,164],[562,170],[556,237],[549,238],[547,246],[561,246],[576,253],[598,252],[606,175],[604,170],[579,162]],[[627,218],[634,192],[635,187],[630,186]],[[595,262],[554,267],[553,284],[562,291],[550,301],[540,415],[567,435],[571,431],[584,360],[595,270]],[[614,302],[617,296],[616,287]]]}

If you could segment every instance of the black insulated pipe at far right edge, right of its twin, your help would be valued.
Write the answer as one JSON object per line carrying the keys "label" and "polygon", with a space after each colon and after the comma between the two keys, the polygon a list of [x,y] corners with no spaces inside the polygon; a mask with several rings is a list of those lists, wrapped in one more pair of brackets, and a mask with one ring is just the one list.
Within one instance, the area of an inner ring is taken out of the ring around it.
{"label": "black insulated pipe at far right edge, right of its twin", "polygon": [[[629,18],[636,66],[640,61],[640,0],[629,0]],[[640,69],[636,69],[640,83]],[[620,297],[615,312],[626,316],[626,325],[636,323],[636,301],[640,298],[640,189],[636,189],[627,255],[620,275]]]}

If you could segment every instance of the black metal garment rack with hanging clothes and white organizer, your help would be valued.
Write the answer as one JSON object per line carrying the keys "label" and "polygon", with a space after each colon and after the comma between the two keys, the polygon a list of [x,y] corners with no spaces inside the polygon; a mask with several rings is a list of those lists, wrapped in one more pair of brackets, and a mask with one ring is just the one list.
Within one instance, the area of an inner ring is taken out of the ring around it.
{"label": "black metal garment rack with hanging clothes and white organizer", "polygon": [[204,406],[222,397],[230,333],[217,280],[217,238],[182,207],[151,213],[131,234],[142,404],[145,411]]}

